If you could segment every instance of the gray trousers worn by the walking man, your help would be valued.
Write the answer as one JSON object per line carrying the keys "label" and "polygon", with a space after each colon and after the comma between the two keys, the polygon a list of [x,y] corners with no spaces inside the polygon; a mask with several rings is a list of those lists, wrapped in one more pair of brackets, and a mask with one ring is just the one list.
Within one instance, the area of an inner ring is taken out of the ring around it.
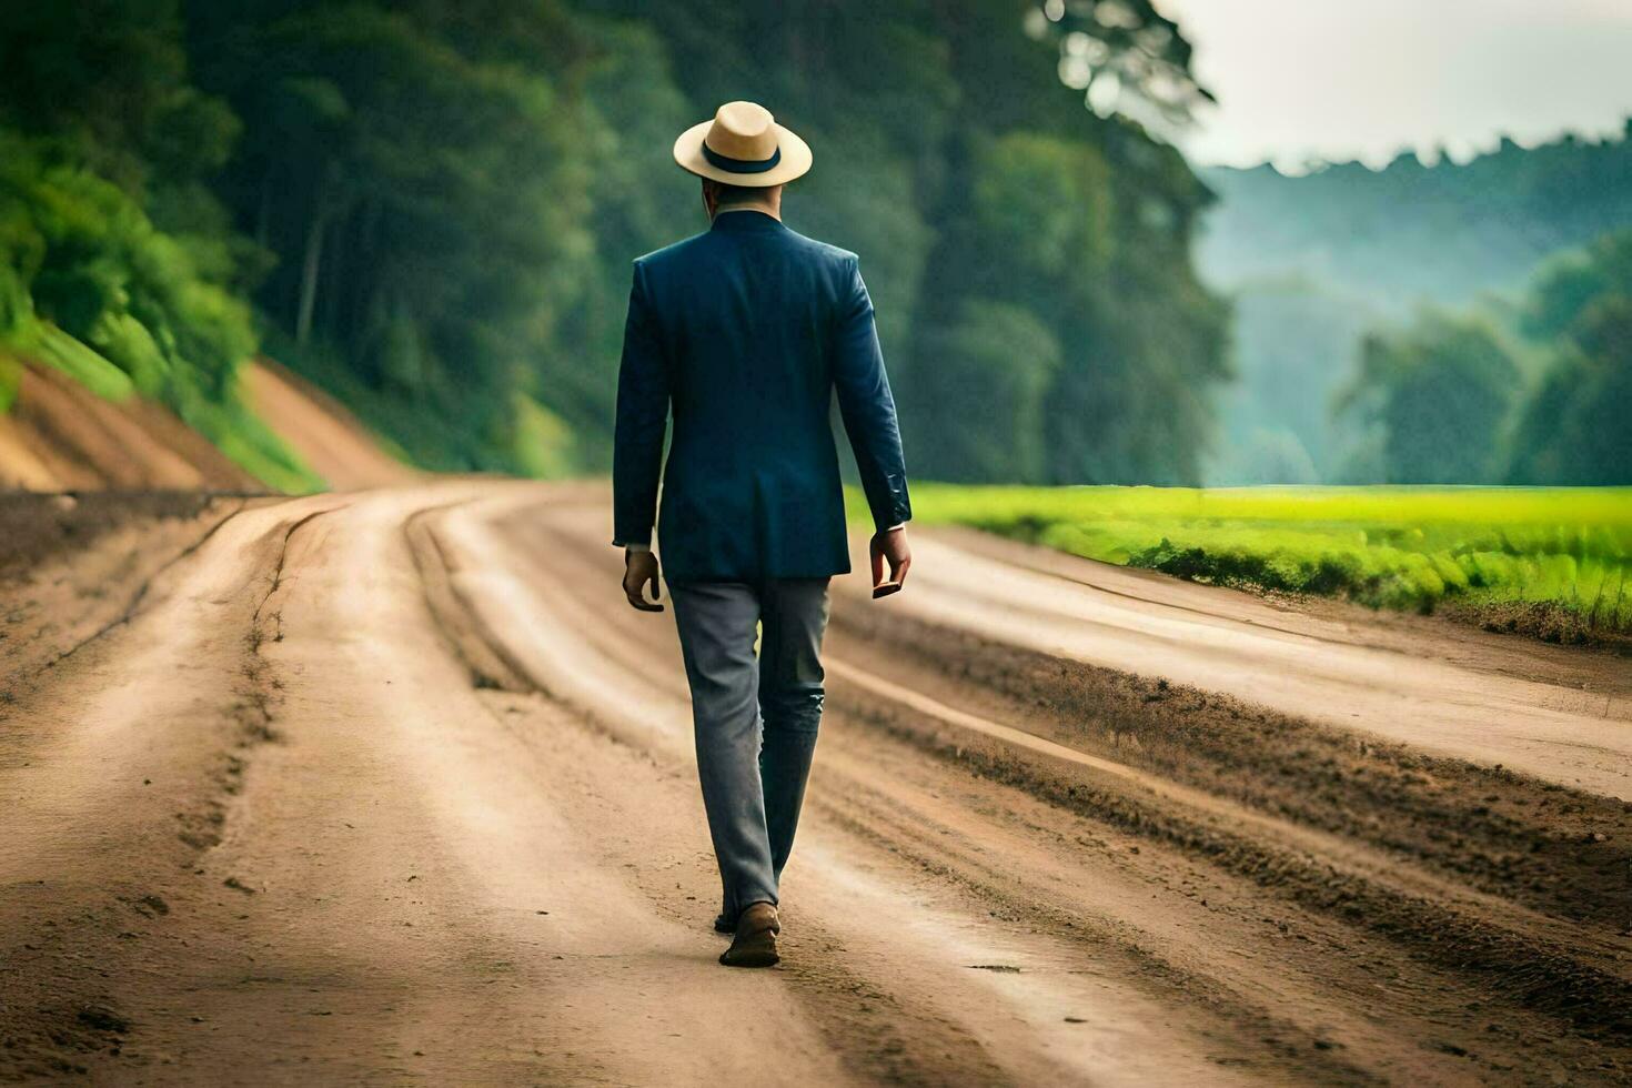
{"label": "gray trousers worn by the walking man", "polygon": [[[728,917],[777,902],[821,724],[827,579],[669,586]],[[761,628],[754,659],[754,628]]]}

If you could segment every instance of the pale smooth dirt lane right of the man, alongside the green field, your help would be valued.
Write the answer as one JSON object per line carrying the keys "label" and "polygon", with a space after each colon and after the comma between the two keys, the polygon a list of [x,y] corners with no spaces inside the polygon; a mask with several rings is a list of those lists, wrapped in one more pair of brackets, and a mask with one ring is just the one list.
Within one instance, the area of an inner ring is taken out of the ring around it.
{"label": "pale smooth dirt lane right of the man, alongside the green field", "polygon": [[1632,801],[1624,657],[1547,670],[1567,654],[1529,643],[1528,659],[1503,652],[1501,670],[1488,652],[1446,652],[1490,651],[1495,638],[1299,615],[973,532],[930,537],[919,553],[922,592],[906,607],[935,623]]}

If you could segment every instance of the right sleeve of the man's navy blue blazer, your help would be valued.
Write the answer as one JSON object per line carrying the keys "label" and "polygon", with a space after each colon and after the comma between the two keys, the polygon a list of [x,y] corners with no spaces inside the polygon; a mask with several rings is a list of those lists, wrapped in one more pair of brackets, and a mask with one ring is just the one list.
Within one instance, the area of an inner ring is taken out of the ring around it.
{"label": "right sleeve of the man's navy blue blazer", "polygon": [[834,390],[873,527],[883,532],[912,517],[901,427],[885,375],[885,352],[878,346],[873,300],[862,282],[857,258],[847,261],[842,282],[832,343]]}

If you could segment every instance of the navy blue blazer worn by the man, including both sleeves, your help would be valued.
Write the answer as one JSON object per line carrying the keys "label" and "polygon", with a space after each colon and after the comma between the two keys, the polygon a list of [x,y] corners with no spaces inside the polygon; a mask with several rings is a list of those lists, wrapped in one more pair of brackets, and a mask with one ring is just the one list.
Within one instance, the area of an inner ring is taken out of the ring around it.
{"label": "navy blue blazer worn by the man, including both sleeves", "polygon": [[896,405],[854,253],[738,210],[635,261],[614,543],[650,543],[656,514],[669,581],[847,573],[834,393],[873,524],[907,520]]}

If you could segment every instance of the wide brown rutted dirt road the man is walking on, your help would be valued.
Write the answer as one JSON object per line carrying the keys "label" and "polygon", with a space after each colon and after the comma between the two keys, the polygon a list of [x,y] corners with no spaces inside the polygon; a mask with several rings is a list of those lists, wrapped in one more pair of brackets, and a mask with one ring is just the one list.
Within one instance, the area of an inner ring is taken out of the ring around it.
{"label": "wide brown rutted dirt road the man is walking on", "polygon": [[1624,659],[925,533],[837,592],[785,962],[733,972],[605,529],[442,481],[8,589],[0,1080],[1632,1077]]}

